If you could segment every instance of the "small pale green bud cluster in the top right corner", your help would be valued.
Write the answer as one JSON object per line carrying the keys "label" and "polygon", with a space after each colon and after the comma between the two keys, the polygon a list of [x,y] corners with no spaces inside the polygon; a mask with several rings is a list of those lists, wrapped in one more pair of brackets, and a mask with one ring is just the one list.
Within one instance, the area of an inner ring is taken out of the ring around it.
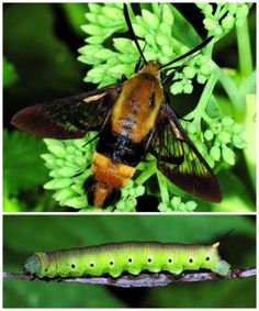
{"label": "small pale green bud cluster in the top right corner", "polygon": [[216,8],[206,2],[196,3],[205,16],[203,24],[209,35],[221,37],[235,25],[240,26],[246,21],[249,12],[249,3],[217,3]]}

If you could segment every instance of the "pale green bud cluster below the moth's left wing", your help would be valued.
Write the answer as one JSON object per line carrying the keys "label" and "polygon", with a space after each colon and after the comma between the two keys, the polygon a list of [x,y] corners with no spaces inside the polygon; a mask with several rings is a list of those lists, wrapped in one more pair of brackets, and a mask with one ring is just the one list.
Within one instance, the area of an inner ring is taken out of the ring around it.
{"label": "pale green bud cluster below the moth's left wing", "polygon": [[[81,140],[44,140],[50,154],[43,154],[46,167],[53,178],[44,189],[55,190],[54,199],[59,204],[82,209],[88,206],[83,182],[91,175],[91,164],[95,143],[87,144],[95,135],[90,132]],[[87,144],[87,145],[86,145]]]}

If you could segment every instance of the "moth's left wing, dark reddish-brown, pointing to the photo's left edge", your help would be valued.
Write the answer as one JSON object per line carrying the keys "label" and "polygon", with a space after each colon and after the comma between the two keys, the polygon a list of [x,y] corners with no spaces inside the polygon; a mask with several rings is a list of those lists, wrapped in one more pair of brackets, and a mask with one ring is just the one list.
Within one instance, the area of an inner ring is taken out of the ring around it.
{"label": "moth's left wing, dark reddish-brown, pointing to the photo's left edge", "polygon": [[99,131],[108,121],[122,85],[36,103],[19,111],[11,124],[41,137],[80,138],[88,131]]}

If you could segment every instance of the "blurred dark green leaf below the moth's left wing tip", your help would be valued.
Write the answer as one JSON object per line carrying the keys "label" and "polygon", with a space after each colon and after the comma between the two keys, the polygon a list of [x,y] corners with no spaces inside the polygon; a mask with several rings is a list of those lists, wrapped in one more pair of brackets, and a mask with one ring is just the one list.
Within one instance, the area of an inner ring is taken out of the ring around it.
{"label": "blurred dark green leaf below the moth's left wing tip", "polygon": [[38,196],[48,178],[41,160],[45,151],[33,135],[3,131],[3,211],[52,211],[49,196]]}

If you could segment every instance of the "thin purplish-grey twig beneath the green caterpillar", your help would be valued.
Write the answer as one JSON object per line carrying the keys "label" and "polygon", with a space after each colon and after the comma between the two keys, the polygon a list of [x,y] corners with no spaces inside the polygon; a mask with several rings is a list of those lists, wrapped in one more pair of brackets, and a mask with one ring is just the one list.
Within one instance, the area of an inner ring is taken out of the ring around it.
{"label": "thin purplish-grey twig beneath the green caterpillar", "polygon": [[80,284],[94,284],[108,285],[115,287],[158,287],[166,286],[172,282],[194,282],[218,279],[232,278],[249,278],[256,276],[256,268],[246,269],[232,269],[226,277],[221,277],[214,273],[183,273],[180,277],[171,274],[140,274],[138,276],[123,275],[116,279],[105,277],[80,277],[80,278],[37,278],[32,275],[3,273],[3,278],[20,279],[20,280],[41,280],[41,281],[65,281],[65,282],[80,282]]}

